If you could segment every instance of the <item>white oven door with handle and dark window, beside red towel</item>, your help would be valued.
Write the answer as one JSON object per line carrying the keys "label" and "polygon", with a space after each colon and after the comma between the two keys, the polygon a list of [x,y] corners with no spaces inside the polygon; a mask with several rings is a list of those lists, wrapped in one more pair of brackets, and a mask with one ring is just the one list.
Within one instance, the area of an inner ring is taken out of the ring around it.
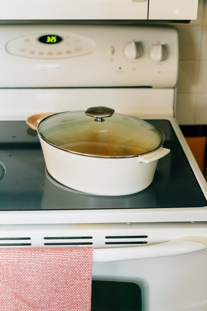
{"label": "white oven door with handle and dark window, beside red towel", "polygon": [[92,311],[206,311],[207,240],[196,240],[95,249]]}

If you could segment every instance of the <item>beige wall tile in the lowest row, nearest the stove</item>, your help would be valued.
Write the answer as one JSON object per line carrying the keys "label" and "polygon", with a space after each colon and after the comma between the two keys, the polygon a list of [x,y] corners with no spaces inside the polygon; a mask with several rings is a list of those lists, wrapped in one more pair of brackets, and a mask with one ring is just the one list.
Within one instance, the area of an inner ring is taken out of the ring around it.
{"label": "beige wall tile in the lowest row, nearest the stove", "polygon": [[176,119],[178,124],[194,124],[196,111],[196,95],[178,94],[176,100]]}

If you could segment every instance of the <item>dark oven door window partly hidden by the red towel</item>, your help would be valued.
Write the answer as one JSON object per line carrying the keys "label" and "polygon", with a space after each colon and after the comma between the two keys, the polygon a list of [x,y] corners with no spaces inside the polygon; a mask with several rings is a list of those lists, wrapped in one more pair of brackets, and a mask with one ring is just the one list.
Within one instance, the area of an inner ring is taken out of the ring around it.
{"label": "dark oven door window partly hidden by the red towel", "polygon": [[142,311],[142,292],[136,283],[92,281],[91,311]]}

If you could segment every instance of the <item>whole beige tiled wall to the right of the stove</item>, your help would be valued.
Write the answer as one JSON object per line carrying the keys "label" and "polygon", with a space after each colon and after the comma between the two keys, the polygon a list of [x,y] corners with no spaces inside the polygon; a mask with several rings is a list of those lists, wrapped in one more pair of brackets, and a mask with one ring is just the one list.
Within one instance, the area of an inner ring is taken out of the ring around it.
{"label": "whole beige tiled wall to the right of the stove", "polygon": [[207,0],[199,0],[196,21],[173,26],[179,36],[178,123],[207,124]]}

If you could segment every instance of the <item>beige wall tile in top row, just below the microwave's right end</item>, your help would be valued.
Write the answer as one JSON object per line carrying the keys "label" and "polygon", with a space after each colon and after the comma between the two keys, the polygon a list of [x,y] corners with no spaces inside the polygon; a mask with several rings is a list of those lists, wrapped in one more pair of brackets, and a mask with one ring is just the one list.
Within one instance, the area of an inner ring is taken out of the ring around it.
{"label": "beige wall tile in top row, just below the microwave's right end", "polygon": [[179,59],[199,60],[201,52],[202,26],[178,25]]}

